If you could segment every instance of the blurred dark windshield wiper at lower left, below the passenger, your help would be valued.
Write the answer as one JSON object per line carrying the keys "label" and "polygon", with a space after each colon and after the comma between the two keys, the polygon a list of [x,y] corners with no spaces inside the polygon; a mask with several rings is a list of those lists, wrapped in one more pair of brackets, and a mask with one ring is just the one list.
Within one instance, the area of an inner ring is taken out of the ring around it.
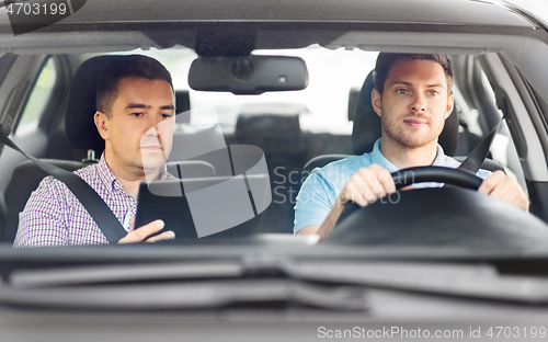
{"label": "blurred dark windshield wiper at lower left, below the passenger", "polygon": [[241,263],[229,262],[18,270],[0,286],[0,305],[101,310],[248,305],[352,311],[368,308],[366,290],[361,287],[333,289],[270,272],[251,273]]}

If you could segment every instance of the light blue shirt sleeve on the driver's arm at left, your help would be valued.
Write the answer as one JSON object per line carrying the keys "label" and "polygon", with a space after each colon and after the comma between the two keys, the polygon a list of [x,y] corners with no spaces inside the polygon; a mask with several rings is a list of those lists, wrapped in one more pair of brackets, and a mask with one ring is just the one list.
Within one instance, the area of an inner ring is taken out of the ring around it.
{"label": "light blue shirt sleeve on the driver's arm at left", "polygon": [[320,226],[335,202],[335,190],[320,169],[307,178],[295,204],[294,232],[308,226]]}

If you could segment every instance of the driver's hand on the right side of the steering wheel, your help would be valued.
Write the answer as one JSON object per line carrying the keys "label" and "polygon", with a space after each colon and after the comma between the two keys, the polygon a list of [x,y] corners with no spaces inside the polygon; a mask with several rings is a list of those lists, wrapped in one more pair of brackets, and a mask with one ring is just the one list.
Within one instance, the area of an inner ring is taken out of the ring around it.
{"label": "driver's hand on the right side of the steering wheel", "polygon": [[522,186],[503,171],[495,171],[481,183],[478,192],[513,204],[523,210],[529,209],[529,200]]}

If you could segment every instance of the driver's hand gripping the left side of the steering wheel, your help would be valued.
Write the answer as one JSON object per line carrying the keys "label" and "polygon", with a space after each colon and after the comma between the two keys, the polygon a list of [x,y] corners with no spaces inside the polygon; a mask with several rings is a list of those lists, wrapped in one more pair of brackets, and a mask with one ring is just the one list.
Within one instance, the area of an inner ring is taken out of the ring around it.
{"label": "driver's hand gripping the left side of the steering wheel", "polygon": [[372,164],[357,170],[350,179],[336,198],[336,205],[352,201],[364,207],[395,192],[396,184],[390,172],[381,166]]}

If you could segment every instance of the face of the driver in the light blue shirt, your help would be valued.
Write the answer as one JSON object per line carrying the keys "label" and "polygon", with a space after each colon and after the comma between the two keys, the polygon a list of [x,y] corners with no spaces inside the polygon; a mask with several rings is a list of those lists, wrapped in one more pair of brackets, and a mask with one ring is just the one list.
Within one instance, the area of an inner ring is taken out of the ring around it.
{"label": "face of the driver in the light blue shirt", "polygon": [[381,118],[383,141],[418,148],[437,141],[453,111],[443,67],[433,60],[400,60],[385,81],[383,95],[372,101]]}

